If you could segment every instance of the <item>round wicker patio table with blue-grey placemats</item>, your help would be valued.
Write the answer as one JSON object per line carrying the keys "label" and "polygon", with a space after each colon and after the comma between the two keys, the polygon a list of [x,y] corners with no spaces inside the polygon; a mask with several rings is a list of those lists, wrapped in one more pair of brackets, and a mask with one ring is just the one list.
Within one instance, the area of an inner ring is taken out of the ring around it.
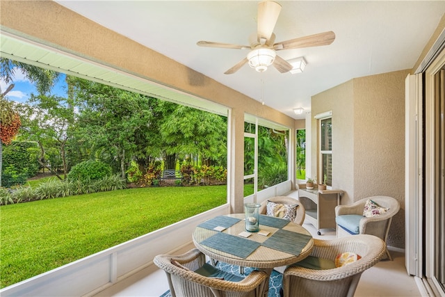
{"label": "round wicker patio table with blue-grey placemats", "polygon": [[[211,218],[195,227],[193,243],[204,255],[216,261],[254,267],[266,271],[305,259],[312,251],[314,239],[302,226],[282,218],[261,215],[260,232],[246,232],[244,214]],[[262,232],[268,233],[261,235]],[[265,296],[267,296],[268,282]]]}

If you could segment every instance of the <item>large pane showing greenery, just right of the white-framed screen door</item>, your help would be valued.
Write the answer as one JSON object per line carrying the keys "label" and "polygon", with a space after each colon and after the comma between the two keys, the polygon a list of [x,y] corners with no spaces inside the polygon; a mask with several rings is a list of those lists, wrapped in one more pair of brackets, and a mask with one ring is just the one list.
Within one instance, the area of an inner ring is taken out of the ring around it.
{"label": "large pane showing greenery, just right of the white-framed screen door", "polygon": [[258,127],[258,191],[287,180],[288,133]]}

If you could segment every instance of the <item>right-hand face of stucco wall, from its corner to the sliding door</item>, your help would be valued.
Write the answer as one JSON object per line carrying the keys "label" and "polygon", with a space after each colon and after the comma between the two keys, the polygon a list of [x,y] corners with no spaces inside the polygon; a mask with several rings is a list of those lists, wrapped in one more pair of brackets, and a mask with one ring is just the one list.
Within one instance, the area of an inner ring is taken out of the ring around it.
{"label": "right-hand face of stucco wall, from its corner to the sliding door", "polygon": [[410,70],[353,79],[353,197],[394,197],[401,203],[388,244],[405,247],[405,78]]}

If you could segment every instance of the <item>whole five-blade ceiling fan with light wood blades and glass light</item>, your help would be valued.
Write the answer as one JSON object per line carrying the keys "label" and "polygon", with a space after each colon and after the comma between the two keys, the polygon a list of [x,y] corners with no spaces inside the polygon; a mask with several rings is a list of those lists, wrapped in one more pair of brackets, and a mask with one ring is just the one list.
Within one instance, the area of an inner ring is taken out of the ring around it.
{"label": "whole five-blade ceiling fan with light wood blades and glass light", "polygon": [[258,3],[257,33],[249,38],[250,45],[232,45],[229,43],[199,41],[200,47],[220,47],[225,49],[250,49],[248,55],[239,61],[232,68],[224,72],[233,74],[244,64],[249,63],[250,67],[258,72],[266,71],[269,65],[273,65],[281,73],[292,70],[292,65],[276,54],[275,51],[284,49],[299,49],[302,47],[318,47],[330,45],[335,39],[335,33],[327,31],[305,37],[294,38],[282,42],[275,42],[273,29],[280,15],[281,5],[275,1],[262,1]]}

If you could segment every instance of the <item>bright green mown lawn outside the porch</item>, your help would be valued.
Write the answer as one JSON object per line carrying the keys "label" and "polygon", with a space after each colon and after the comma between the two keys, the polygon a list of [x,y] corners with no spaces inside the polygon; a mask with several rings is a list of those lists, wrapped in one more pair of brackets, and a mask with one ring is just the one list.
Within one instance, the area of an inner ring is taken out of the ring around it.
{"label": "bright green mown lawn outside the porch", "polygon": [[200,214],[227,186],[131,188],[0,207],[0,287]]}

